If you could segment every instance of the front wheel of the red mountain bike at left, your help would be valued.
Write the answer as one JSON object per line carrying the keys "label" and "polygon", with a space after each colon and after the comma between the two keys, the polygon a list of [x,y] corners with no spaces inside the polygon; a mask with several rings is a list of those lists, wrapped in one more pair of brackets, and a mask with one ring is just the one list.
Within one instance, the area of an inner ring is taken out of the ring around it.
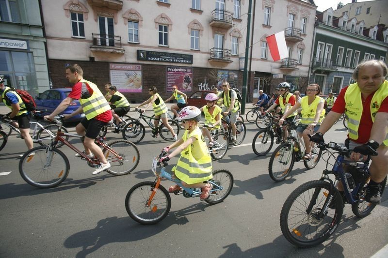
{"label": "front wheel of the red mountain bike at left", "polygon": [[[49,167],[46,166],[48,146],[38,146],[24,153],[19,161],[19,173],[24,181],[38,188],[52,188],[64,182],[70,164],[66,155],[52,148]],[[34,152],[30,156],[30,153]]]}

